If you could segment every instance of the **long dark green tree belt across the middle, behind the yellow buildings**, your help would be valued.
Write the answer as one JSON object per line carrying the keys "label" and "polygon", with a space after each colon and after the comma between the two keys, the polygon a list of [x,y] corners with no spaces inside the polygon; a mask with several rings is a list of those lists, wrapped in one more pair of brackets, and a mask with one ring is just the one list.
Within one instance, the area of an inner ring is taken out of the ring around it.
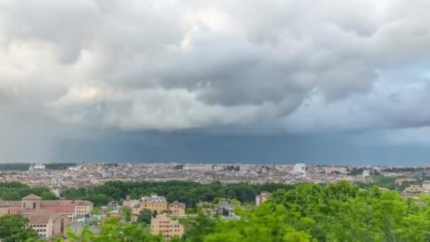
{"label": "long dark green tree belt across the middle, behind the yellow buildings", "polygon": [[216,197],[234,198],[240,202],[254,202],[260,191],[289,190],[293,185],[266,183],[250,185],[246,183],[223,185],[218,182],[202,184],[188,181],[171,180],[167,182],[120,182],[110,181],[93,188],[69,188],[62,192],[68,199],[89,200],[95,206],[108,204],[112,200],[121,200],[129,194],[136,199],[156,193],[165,196],[168,202],[178,200],[187,207],[195,207],[200,201],[211,202]]}

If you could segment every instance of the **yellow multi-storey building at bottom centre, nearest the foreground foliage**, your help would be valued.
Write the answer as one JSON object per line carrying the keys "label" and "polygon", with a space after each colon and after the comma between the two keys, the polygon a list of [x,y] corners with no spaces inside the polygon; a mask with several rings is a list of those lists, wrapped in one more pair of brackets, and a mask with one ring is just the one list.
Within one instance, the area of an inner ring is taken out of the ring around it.
{"label": "yellow multi-storey building at bottom centre, nearest the foreground foliage", "polygon": [[180,237],[185,232],[185,227],[179,221],[173,220],[168,214],[158,214],[151,219],[152,234],[161,234],[163,238],[169,239]]}

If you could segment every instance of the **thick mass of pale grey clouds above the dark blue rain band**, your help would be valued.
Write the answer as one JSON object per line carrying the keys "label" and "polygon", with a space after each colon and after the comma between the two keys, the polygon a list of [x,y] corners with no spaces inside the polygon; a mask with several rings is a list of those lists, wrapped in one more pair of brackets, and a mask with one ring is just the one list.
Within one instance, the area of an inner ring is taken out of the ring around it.
{"label": "thick mass of pale grey clouds above the dark blue rain band", "polygon": [[[381,70],[428,60],[426,8],[400,0],[3,1],[0,96],[67,125],[273,124],[285,132],[315,92],[321,108],[366,97]],[[348,107],[337,112],[344,129],[401,118]],[[314,129],[306,123],[301,129]]]}

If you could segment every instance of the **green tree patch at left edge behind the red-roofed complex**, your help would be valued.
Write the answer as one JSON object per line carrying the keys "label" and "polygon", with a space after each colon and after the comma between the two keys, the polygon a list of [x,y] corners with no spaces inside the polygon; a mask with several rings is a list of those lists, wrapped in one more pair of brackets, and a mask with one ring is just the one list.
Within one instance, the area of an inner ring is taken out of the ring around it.
{"label": "green tree patch at left edge behind the red-roofed complex", "polygon": [[48,188],[35,187],[30,188],[28,185],[18,182],[0,183],[0,199],[1,200],[21,200],[29,194],[35,194],[42,197],[42,200],[57,200],[58,197],[54,195]]}

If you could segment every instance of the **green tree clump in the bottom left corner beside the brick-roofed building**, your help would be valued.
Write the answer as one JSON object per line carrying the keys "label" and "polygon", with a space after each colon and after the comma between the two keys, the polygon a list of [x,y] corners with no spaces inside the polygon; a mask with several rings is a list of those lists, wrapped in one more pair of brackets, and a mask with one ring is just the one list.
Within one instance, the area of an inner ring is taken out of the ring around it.
{"label": "green tree clump in the bottom left corner beside the brick-roofed building", "polygon": [[35,241],[39,236],[27,225],[28,218],[21,215],[5,215],[0,217],[0,241],[22,242]]}

